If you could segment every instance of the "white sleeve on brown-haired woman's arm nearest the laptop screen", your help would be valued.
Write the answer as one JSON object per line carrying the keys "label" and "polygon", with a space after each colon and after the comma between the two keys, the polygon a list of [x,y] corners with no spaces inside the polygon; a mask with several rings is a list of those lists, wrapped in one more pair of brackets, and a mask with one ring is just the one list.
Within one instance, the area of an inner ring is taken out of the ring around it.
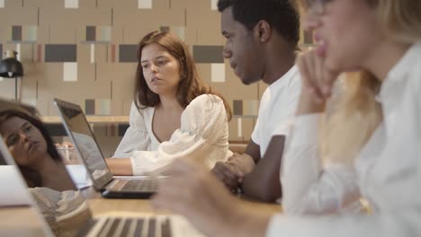
{"label": "white sleeve on brown-haired woman's arm nearest the laptop screen", "polygon": [[130,126],[117,147],[114,158],[128,158],[134,151],[150,150],[150,137],[143,118],[143,113],[136,108],[134,102],[130,107]]}

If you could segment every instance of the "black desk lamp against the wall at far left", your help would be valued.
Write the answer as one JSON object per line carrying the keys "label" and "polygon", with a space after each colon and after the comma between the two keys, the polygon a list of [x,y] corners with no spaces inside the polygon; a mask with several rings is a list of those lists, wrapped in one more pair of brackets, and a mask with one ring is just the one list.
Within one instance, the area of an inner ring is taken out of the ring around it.
{"label": "black desk lamp against the wall at far left", "polygon": [[6,51],[5,58],[0,62],[0,76],[14,78],[14,100],[17,101],[17,78],[23,75],[23,66],[16,55],[16,51]]}

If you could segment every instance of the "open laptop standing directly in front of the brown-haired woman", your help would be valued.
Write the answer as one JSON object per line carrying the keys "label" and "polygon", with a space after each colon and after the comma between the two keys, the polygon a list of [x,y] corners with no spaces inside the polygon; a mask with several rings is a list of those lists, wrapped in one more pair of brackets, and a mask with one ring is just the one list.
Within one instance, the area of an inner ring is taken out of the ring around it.
{"label": "open laptop standing directly in front of the brown-haired woman", "polygon": [[[54,99],[68,136],[85,162],[94,188],[105,198],[150,198],[157,191],[157,177],[113,178],[94,133],[79,105]],[[165,179],[165,177],[162,177]]]}

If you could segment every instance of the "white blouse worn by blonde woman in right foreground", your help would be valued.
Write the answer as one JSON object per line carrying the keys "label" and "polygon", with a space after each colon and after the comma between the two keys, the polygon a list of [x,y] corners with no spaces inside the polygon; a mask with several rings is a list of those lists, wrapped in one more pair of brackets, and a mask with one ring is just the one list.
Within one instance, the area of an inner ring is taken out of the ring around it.
{"label": "white blouse worn by blonde woman in right foreground", "polygon": [[[421,42],[408,49],[382,83],[378,100],[383,121],[363,147],[354,168],[321,170],[314,153],[318,115],[300,116],[292,128],[291,150],[306,146],[309,150],[293,152],[295,157],[285,161],[282,170],[290,170],[287,167],[306,161],[310,165],[303,165],[305,170],[300,175],[283,173],[283,188],[288,189],[283,194],[291,194],[291,197],[284,196],[285,207],[337,208],[353,198],[359,188],[363,198],[370,202],[373,214],[273,215],[267,236],[421,235],[420,56]],[[354,175],[357,186],[353,182]],[[330,192],[328,195],[325,194],[327,191]],[[293,200],[294,197],[297,199]]]}

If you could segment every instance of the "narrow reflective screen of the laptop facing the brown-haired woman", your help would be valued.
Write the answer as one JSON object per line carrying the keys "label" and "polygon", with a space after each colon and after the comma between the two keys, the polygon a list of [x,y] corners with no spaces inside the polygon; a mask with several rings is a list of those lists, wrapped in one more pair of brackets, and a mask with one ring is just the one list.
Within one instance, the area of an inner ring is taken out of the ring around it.
{"label": "narrow reflective screen of the laptop facing the brown-haired woman", "polygon": [[58,106],[61,118],[63,118],[67,133],[75,143],[76,149],[91,175],[94,188],[102,189],[106,183],[112,180],[112,173],[108,169],[103,154],[96,143],[84,112],[76,104],[58,99],[54,101]]}

